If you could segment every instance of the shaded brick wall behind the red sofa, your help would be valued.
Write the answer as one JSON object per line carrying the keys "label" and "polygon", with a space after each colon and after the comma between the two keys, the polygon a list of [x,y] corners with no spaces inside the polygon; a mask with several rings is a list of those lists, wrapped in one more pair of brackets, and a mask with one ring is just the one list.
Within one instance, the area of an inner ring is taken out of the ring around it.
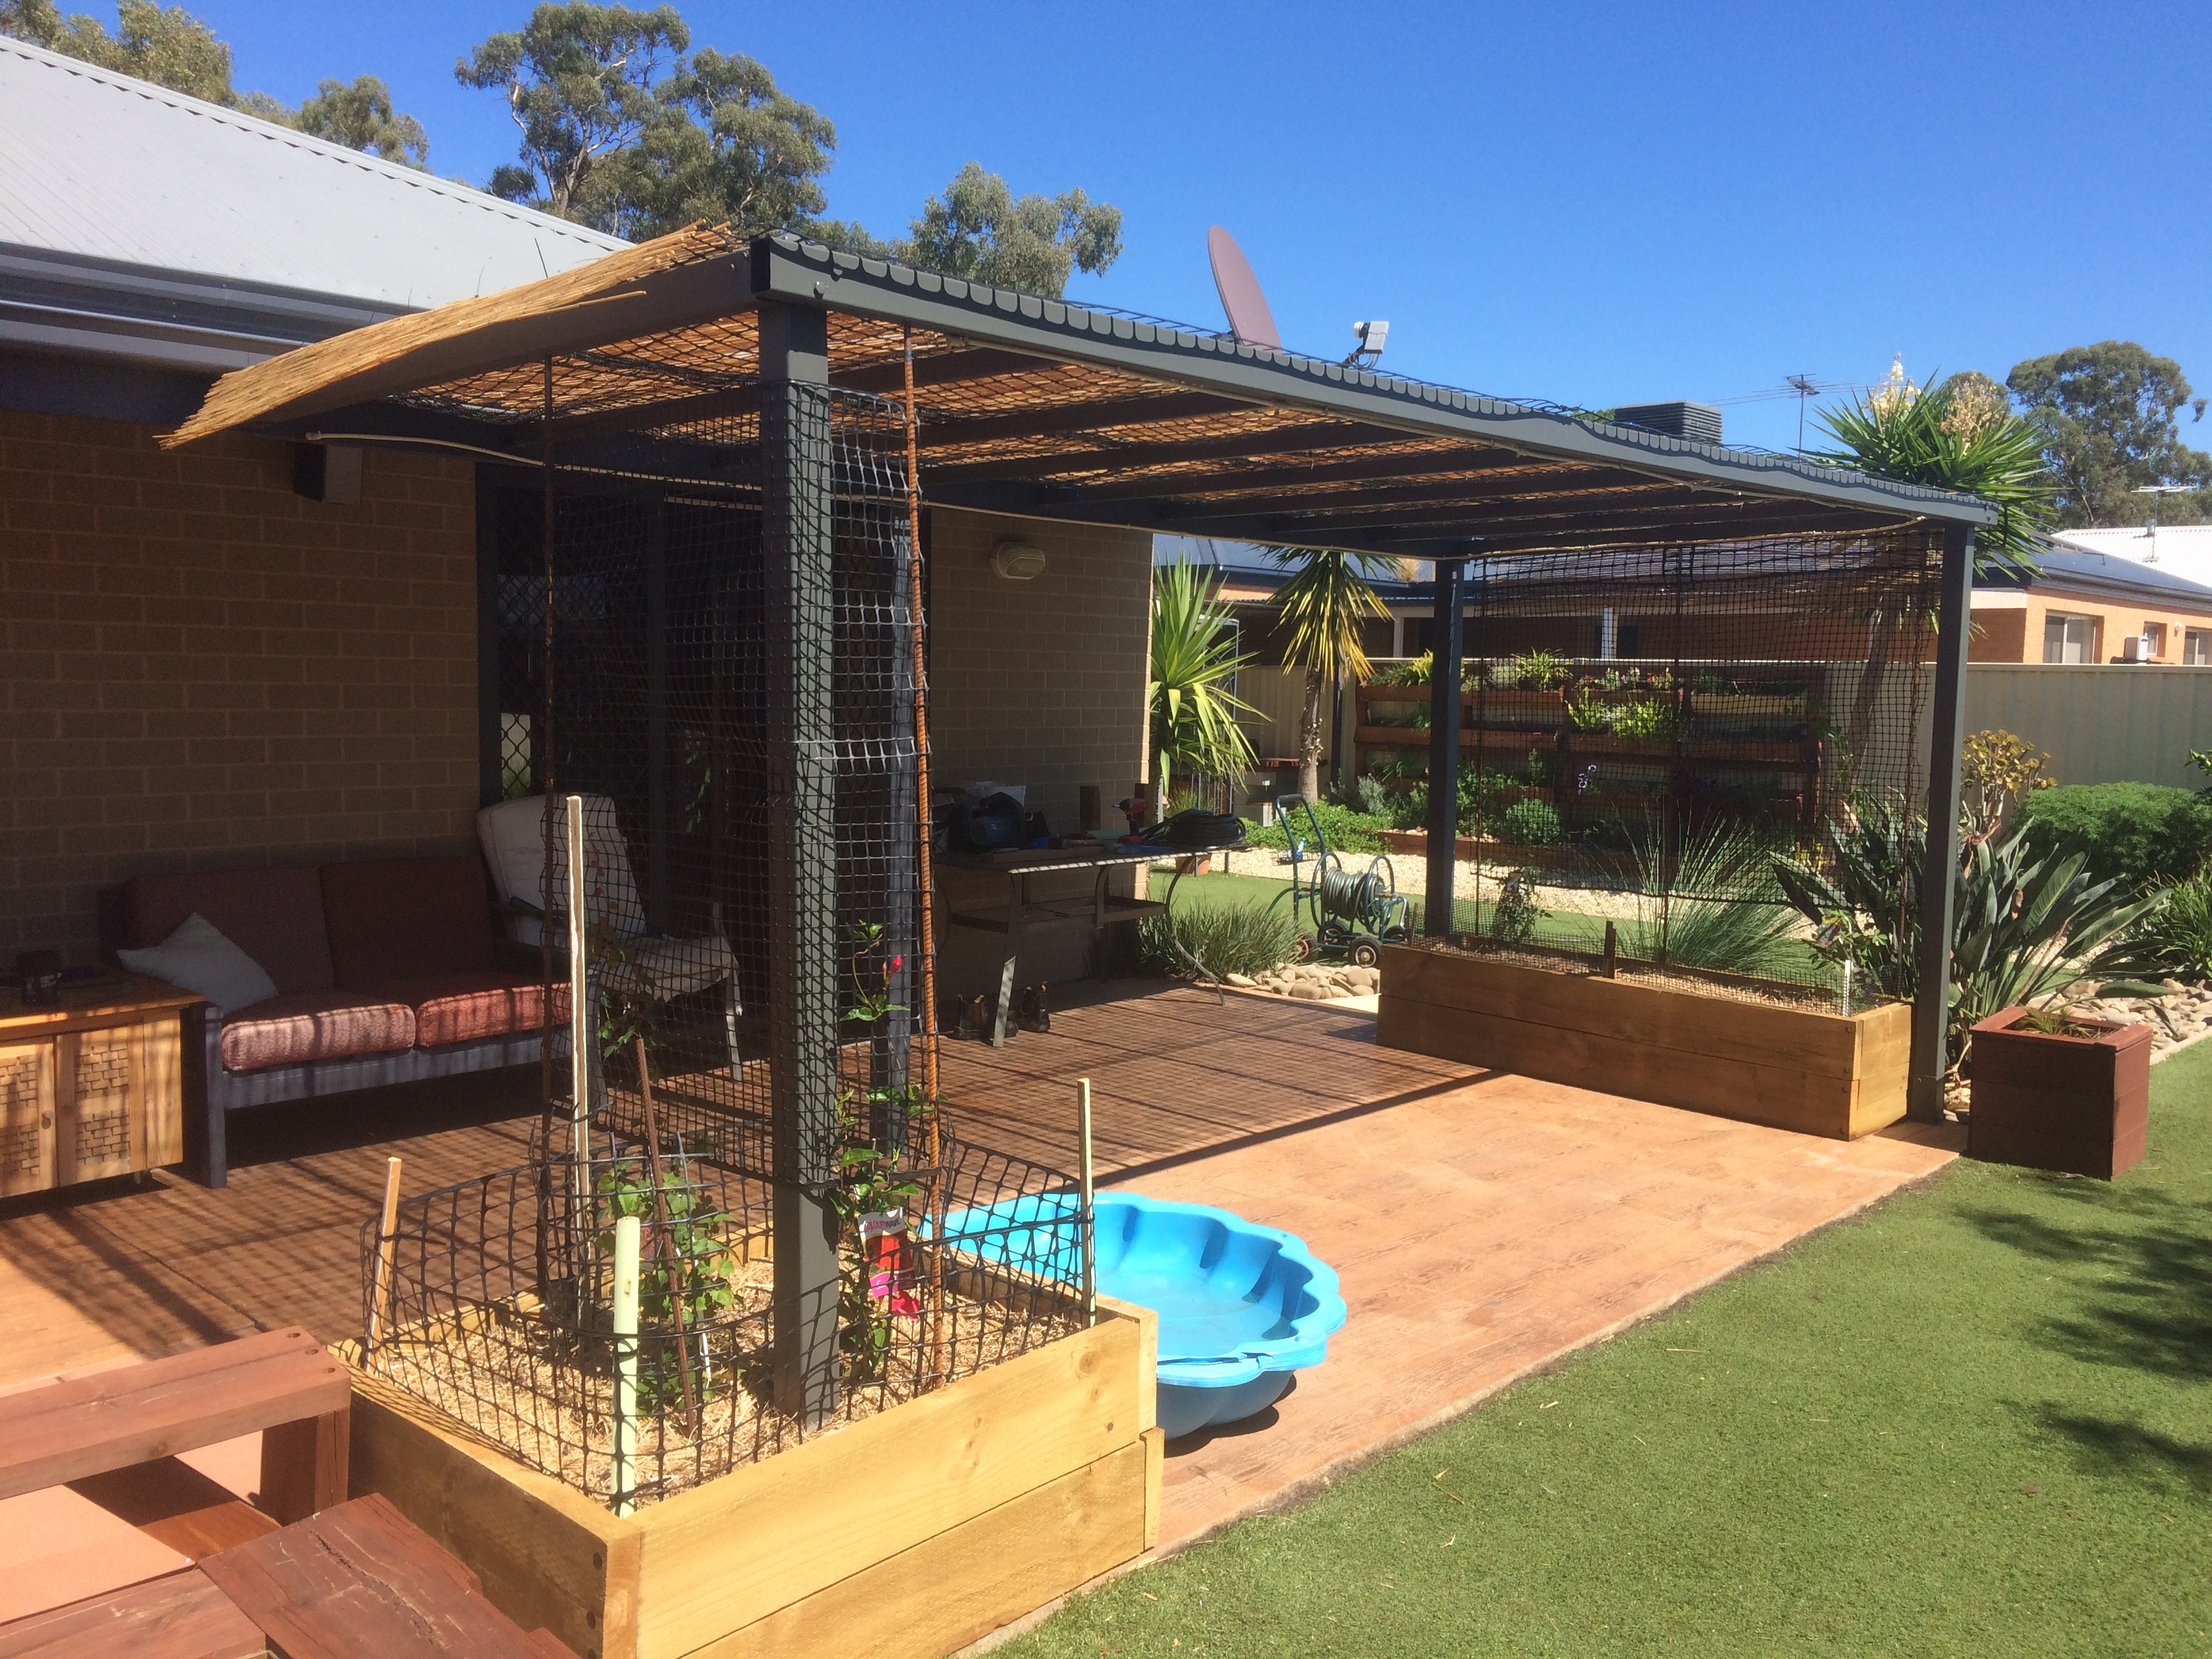
{"label": "shaded brick wall behind the red sofa", "polygon": [[0,964],[142,869],[451,852],[476,810],[467,462],[0,411]]}

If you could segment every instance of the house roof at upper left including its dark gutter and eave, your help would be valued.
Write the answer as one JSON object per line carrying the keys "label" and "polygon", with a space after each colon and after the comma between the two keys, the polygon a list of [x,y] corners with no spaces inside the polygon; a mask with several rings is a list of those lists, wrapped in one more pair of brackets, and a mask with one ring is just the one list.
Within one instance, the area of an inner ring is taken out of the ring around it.
{"label": "house roof at upper left including its dark gutter and eave", "polygon": [[0,405],[173,425],[210,376],[624,246],[0,40]]}

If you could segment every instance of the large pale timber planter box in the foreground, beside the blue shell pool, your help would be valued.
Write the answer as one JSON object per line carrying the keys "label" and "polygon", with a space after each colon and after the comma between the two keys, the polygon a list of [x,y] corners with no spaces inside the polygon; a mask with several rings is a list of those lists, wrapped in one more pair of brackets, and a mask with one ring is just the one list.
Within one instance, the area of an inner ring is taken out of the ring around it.
{"label": "large pale timber planter box in the foreground, beside the blue shell pool", "polygon": [[613,1515],[354,1371],[378,1491],[582,1659],[940,1659],[1159,1540],[1157,1321],[1099,1323]]}

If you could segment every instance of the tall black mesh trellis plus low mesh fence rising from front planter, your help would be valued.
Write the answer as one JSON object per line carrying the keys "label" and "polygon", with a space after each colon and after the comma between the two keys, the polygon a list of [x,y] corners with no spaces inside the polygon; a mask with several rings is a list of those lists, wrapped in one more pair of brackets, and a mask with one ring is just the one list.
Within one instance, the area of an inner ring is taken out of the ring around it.
{"label": "tall black mesh trellis plus low mesh fence rising from front planter", "polygon": [[[580,1091],[549,1066],[531,1166],[409,1201],[396,1239],[367,1228],[369,1363],[626,1506],[1075,1329],[1079,1285],[1020,1228],[933,1243],[956,1210],[1075,1181],[953,1139],[909,1075],[905,407],[754,385],[562,445],[493,522],[507,799],[482,838],[513,942],[566,984],[577,836],[591,1040]],[[794,1192],[834,1225],[827,1279],[774,1261]],[[635,1336],[611,1323],[622,1212]]]}

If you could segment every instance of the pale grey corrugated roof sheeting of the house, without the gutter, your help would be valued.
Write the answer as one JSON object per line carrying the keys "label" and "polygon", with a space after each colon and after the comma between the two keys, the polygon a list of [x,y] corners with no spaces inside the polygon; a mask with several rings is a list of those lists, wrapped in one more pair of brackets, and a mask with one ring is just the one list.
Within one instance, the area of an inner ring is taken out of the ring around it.
{"label": "pale grey corrugated roof sheeting of the house, without the gutter", "polygon": [[0,40],[0,243],[394,310],[626,246],[18,40]]}

